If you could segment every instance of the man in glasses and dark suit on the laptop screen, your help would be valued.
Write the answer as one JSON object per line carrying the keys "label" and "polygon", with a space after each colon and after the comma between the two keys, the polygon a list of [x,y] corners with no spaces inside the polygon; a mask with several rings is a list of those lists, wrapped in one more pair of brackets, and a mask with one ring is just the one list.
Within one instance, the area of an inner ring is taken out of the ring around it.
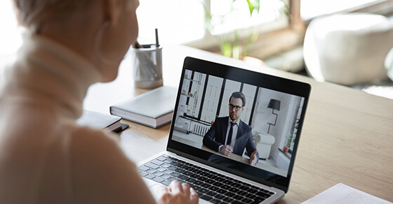
{"label": "man in glasses and dark suit on the laptop screen", "polygon": [[250,165],[259,160],[255,148],[251,126],[240,120],[246,105],[246,97],[241,92],[234,92],[229,97],[229,117],[218,117],[204,136],[203,143],[211,150],[228,156],[231,153],[242,156],[244,148],[250,156]]}

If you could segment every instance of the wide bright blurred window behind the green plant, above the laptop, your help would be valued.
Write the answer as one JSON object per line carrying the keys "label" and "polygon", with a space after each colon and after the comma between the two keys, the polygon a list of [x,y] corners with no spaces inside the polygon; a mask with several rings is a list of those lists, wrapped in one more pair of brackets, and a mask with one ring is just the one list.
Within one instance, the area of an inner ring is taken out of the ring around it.
{"label": "wide bright blurred window behind the green plant, above the laptop", "polygon": [[[140,43],[154,43],[154,29],[159,29],[159,41],[166,44],[186,44],[196,48],[216,46],[215,36],[234,29],[257,27],[258,32],[288,26],[286,0],[260,0],[259,12],[250,15],[246,0],[140,0],[137,10]],[[211,14],[213,27],[206,26]],[[244,35],[247,35],[244,32]]]}

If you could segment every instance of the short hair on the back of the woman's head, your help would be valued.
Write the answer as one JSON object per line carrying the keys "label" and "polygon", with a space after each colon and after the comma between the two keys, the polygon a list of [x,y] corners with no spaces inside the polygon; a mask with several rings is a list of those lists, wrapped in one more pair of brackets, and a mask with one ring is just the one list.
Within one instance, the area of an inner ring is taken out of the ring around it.
{"label": "short hair on the back of the woman's head", "polygon": [[86,9],[92,0],[13,0],[20,25],[39,33],[46,20]]}

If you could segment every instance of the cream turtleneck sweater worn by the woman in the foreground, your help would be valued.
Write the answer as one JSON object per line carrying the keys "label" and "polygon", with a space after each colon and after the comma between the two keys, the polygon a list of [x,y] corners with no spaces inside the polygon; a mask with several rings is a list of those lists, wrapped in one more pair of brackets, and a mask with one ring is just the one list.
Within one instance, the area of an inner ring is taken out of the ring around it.
{"label": "cream turtleneck sweater worn by the woman in the foreground", "polygon": [[97,68],[25,36],[0,79],[0,203],[155,203],[116,141],[76,125]]}

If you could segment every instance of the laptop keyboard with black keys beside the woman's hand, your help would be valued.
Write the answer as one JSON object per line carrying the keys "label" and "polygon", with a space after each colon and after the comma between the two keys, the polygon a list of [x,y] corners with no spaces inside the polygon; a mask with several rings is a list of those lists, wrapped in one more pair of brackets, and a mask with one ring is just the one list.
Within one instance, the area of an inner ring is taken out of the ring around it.
{"label": "laptop keyboard with black keys beside the woman's hand", "polygon": [[138,169],[142,177],[166,186],[173,180],[188,183],[199,198],[211,203],[260,203],[274,194],[168,155],[149,161]]}

